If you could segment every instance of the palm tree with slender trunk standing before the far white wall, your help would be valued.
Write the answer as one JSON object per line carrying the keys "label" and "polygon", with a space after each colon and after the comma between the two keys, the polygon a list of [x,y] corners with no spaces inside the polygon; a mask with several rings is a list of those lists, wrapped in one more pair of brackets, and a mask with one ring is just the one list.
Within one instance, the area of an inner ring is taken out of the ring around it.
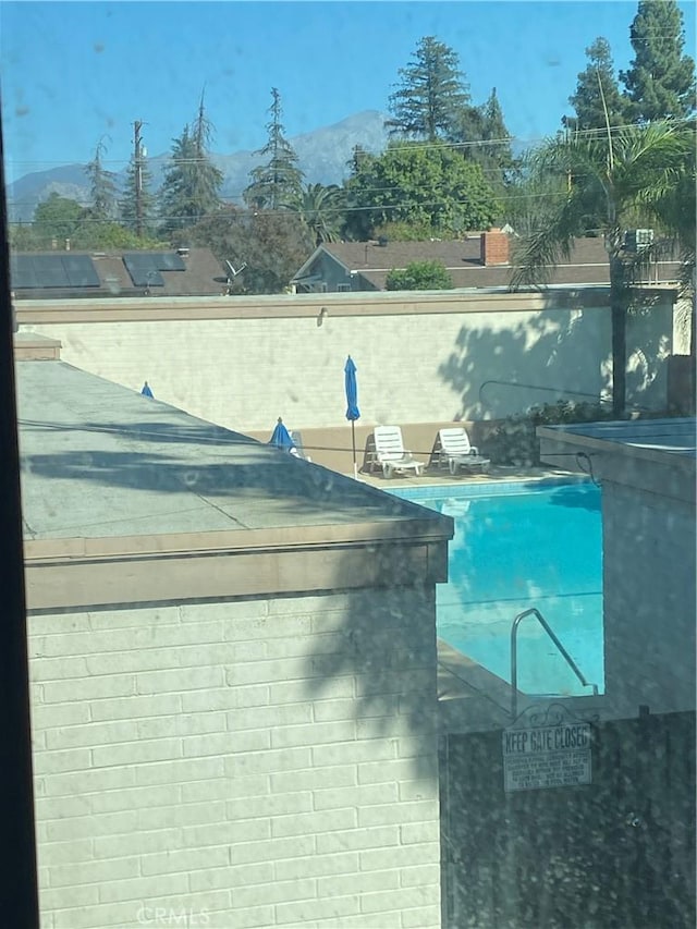
{"label": "palm tree with slender trunk standing before the far white wall", "polygon": [[546,272],[568,258],[573,241],[583,234],[589,217],[600,217],[597,230],[604,239],[610,265],[612,320],[612,408],[622,418],[626,402],[626,317],[629,306],[631,256],[624,250],[624,232],[646,222],[660,221],[664,205],[684,178],[692,132],[670,121],[632,125],[572,137],[558,136],[531,156],[540,176],[568,179],[567,191],[523,244],[516,256],[512,288],[539,286]]}

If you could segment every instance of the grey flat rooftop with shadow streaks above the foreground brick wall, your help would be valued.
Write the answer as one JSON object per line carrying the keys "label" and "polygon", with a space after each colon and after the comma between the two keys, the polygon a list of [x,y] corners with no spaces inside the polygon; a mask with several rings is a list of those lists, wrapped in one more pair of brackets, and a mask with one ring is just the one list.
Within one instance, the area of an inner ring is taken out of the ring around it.
{"label": "grey flat rooftop with shadow streaks above the foreground brick wall", "polygon": [[452,536],[447,517],[63,362],[16,370],[25,540],[276,529],[282,543],[314,527],[331,543],[367,524]]}

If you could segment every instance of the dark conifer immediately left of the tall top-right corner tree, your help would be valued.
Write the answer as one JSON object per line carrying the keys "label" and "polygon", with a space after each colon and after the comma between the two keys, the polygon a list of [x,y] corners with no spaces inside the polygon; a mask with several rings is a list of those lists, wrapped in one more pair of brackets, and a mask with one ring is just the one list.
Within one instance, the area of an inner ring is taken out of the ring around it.
{"label": "dark conifer immediately left of the tall top-right corner tree", "polygon": [[620,93],[610,42],[599,36],[586,49],[586,56],[588,64],[578,75],[576,93],[568,98],[576,118],[565,118],[564,124],[576,132],[606,132],[608,124],[623,125],[627,117],[627,101]]}

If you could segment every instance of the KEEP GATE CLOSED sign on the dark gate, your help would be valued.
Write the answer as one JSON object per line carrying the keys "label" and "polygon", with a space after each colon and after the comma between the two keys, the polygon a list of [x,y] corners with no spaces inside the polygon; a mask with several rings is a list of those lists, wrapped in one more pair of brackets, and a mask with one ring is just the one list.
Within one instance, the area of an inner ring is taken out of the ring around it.
{"label": "KEEP GATE CLOSED sign on the dark gate", "polygon": [[590,723],[503,731],[503,786],[511,791],[573,787],[591,779]]}

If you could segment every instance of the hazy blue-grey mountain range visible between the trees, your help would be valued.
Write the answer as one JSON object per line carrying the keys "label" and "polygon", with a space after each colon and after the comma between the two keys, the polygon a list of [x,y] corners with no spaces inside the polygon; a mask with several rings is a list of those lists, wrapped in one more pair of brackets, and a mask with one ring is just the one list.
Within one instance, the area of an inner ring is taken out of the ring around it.
{"label": "hazy blue-grey mountain range visible between the trees", "polygon": [[[347,162],[355,146],[367,151],[381,151],[388,140],[384,127],[387,117],[377,110],[354,113],[333,125],[289,138],[298,158],[298,167],[308,184],[341,184],[348,174]],[[262,163],[253,151],[235,151],[231,155],[211,154],[211,161],[222,171],[221,196],[227,200],[239,200],[249,183],[249,171]],[[148,158],[152,178],[152,191],[162,182],[169,154]],[[87,204],[89,187],[85,164],[62,164],[49,171],[24,174],[8,185],[8,212],[10,222],[30,222],[34,210],[41,200],[57,193],[61,197]],[[121,186],[125,169],[115,175]]]}

